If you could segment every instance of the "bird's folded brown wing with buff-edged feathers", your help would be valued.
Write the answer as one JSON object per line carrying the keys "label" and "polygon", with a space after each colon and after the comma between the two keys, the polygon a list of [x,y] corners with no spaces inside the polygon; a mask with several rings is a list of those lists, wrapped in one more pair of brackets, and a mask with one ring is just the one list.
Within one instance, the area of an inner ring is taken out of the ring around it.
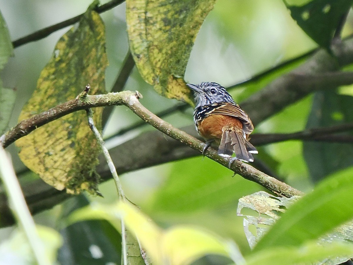
{"label": "bird's folded brown wing with buff-edged feathers", "polygon": [[249,116],[247,116],[241,107],[235,103],[224,102],[221,104],[215,104],[214,108],[210,108],[210,111],[207,113],[207,115],[214,114],[223,114],[240,119],[243,122],[243,130],[246,134],[251,134],[254,130],[254,126],[252,125]]}

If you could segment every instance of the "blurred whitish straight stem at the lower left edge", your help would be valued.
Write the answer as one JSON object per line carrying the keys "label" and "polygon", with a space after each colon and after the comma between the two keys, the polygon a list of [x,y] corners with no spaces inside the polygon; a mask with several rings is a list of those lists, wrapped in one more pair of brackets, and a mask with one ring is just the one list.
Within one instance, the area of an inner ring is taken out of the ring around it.
{"label": "blurred whitish straight stem at the lower left edge", "polygon": [[29,212],[11,160],[2,147],[0,147],[0,178],[10,201],[12,213],[22,227],[37,263],[39,265],[51,264],[44,251],[44,245],[38,235],[34,220]]}

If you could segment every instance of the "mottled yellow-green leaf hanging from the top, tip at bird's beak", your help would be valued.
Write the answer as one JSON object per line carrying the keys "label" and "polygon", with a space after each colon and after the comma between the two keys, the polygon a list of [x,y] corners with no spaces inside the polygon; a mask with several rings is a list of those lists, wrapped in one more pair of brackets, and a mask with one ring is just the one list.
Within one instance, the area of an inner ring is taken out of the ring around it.
{"label": "mottled yellow-green leaf hanging from the top, tip at bird's beak", "polygon": [[130,50],[143,79],[167,98],[193,104],[183,80],[193,42],[215,0],[127,0]]}

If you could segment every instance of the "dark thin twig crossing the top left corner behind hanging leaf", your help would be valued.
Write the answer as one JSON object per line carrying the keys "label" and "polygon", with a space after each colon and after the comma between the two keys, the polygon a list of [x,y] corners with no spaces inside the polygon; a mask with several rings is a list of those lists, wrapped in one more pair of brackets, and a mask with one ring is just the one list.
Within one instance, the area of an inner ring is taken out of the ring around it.
{"label": "dark thin twig crossing the top left corner behind hanging leaf", "polygon": [[[112,9],[115,6],[120,5],[124,1],[125,0],[112,0],[110,2],[107,2],[104,5],[98,6],[96,8],[96,11],[98,13],[103,13],[103,12],[105,12],[107,10]],[[35,31],[34,33],[31,33],[31,34],[29,34],[27,36],[21,37],[21,38],[15,40],[15,41],[13,41],[12,45],[13,45],[14,48],[17,48],[17,47],[19,47],[21,45],[24,45],[26,43],[44,39],[45,37],[49,36],[50,34],[54,33],[55,31],[63,29],[63,28],[66,28],[66,27],[78,22],[82,16],[83,16],[83,14],[80,14],[80,15],[78,15],[76,17],[67,19],[67,20],[62,21],[62,22],[60,22],[58,24],[55,24],[55,25],[40,29],[38,31]]]}

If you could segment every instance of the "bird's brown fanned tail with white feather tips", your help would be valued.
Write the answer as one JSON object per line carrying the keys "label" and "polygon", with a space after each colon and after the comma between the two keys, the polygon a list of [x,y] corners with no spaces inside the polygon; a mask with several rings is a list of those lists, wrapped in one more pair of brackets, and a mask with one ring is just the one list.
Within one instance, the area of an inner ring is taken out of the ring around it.
{"label": "bird's brown fanned tail with white feather tips", "polygon": [[223,131],[218,154],[223,157],[231,157],[233,152],[236,159],[245,162],[253,162],[252,154],[258,153],[256,148],[245,139],[243,130],[227,128]]}

